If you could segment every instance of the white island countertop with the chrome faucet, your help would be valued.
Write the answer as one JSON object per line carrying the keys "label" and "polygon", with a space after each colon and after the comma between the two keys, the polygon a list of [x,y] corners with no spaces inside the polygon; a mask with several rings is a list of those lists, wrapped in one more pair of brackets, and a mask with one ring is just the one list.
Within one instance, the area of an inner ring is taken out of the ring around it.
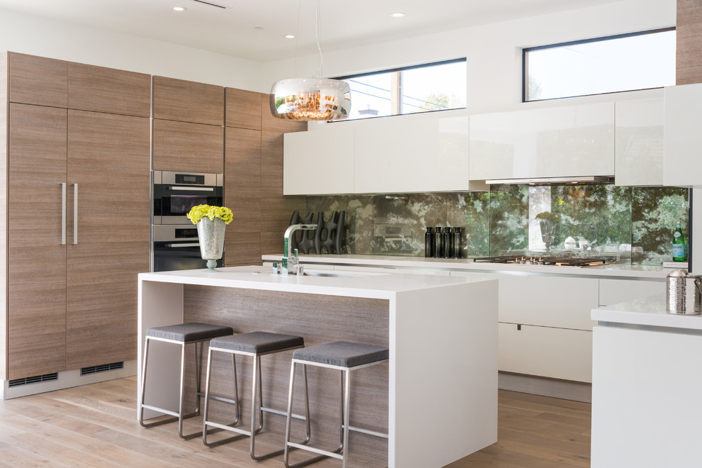
{"label": "white island countertop with the chrome faucet", "polygon": [[[314,270],[306,267],[306,273],[329,274],[331,270]],[[367,297],[391,299],[399,291],[413,291],[453,284],[465,284],[479,279],[464,277],[437,277],[373,272],[344,272],[333,270],[343,277],[283,276],[273,275],[267,267],[223,267],[214,272],[208,269],[189,269],[174,272],[140,273],[140,281],[198,284],[228,288],[264,289],[332,296]]]}

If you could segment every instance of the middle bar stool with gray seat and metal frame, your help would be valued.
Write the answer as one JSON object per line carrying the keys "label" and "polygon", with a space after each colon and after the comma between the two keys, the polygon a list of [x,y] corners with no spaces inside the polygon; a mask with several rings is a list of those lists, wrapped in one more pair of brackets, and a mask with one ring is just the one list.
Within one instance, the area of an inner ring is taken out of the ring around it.
{"label": "middle bar stool with gray seat and metal frame", "polygon": [[[267,333],[267,332],[252,332],[252,333],[242,333],[240,335],[231,335],[221,338],[215,338],[211,340],[208,357],[207,357],[207,374],[205,377],[205,409],[203,414],[203,426],[202,426],[202,442],[208,447],[215,447],[216,445],[222,445],[227,442],[232,442],[233,440],[239,440],[245,437],[250,438],[250,455],[252,459],[260,461],[262,459],[267,459],[281,455],[283,450],[275,450],[264,455],[255,454],[255,442],[256,434],[260,433],[263,428],[263,412],[275,413],[281,416],[285,416],[284,411],[274,410],[272,408],[264,408],[263,406],[263,391],[262,391],[262,378],[261,378],[261,356],[269,355],[275,352],[283,352],[289,350],[296,350],[297,348],[303,347],[305,341],[301,336],[294,335],[281,335],[279,333]],[[208,401],[210,399],[210,382],[211,382],[211,369],[212,369],[212,355],[213,352],[224,352],[232,355],[233,369],[234,369],[234,401],[235,401],[235,417],[233,423],[229,425],[216,423],[208,420]],[[239,389],[236,377],[236,356],[250,356],[253,357],[253,366],[251,374],[251,425],[249,430],[243,428],[235,427],[239,424],[241,416],[241,406],[239,399]],[[258,399],[258,404],[256,404]],[[310,437],[310,425],[309,425],[309,408],[307,400],[307,374],[305,374],[305,406],[306,406],[306,423],[307,423],[307,440],[301,442],[302,445],[309,441]],[[256,427],[256,413],[258,413],[258,426]],[[238,435],[233,435],[230,438],[225,438],[222,440],[217,440],[216,442],[208,442],[207,435],[208,426],[216,428],[215,430],[229,430]]]}

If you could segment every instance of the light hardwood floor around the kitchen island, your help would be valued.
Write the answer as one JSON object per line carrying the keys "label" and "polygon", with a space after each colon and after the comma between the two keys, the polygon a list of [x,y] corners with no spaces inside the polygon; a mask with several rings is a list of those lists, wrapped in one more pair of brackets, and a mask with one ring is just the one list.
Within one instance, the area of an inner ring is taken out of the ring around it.
{"label": "light hardwood floor around the kitchen island", "polygon": [[[253,462],[245,441],[208,448],[180,440],[172,424],[144,429],[136,394],[128,377],[0,401],[0,467],[283,467],[282,457]],[[588,403],[500,391],[498,412],[499,441],[448,467],[589,467]]]}

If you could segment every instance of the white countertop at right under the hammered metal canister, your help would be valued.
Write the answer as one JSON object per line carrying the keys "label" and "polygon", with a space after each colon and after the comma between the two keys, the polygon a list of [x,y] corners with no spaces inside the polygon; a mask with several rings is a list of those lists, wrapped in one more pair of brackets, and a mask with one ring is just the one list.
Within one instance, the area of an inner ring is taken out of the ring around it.
{"label": "white countertop at right under the hammered metal canister", "polygon": [[623,325],[687,328],[702,330],[702,316],[680,315],[666,312],[666,296],[658,294],[612,306],[592,309],[594,321]]}

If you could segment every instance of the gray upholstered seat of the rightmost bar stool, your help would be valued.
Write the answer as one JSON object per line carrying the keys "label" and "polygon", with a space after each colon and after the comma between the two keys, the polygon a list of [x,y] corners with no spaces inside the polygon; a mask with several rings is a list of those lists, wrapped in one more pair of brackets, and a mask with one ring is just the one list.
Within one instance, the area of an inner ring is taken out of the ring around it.
{"label": "gray upholstered seat of the rightmost bar stool", "polygon": [[347,341],[335,341],[325,345],[305,347],[293,353],[293,359],[338,367],[358,367],[388,359],[386,347],[362,345]]}

